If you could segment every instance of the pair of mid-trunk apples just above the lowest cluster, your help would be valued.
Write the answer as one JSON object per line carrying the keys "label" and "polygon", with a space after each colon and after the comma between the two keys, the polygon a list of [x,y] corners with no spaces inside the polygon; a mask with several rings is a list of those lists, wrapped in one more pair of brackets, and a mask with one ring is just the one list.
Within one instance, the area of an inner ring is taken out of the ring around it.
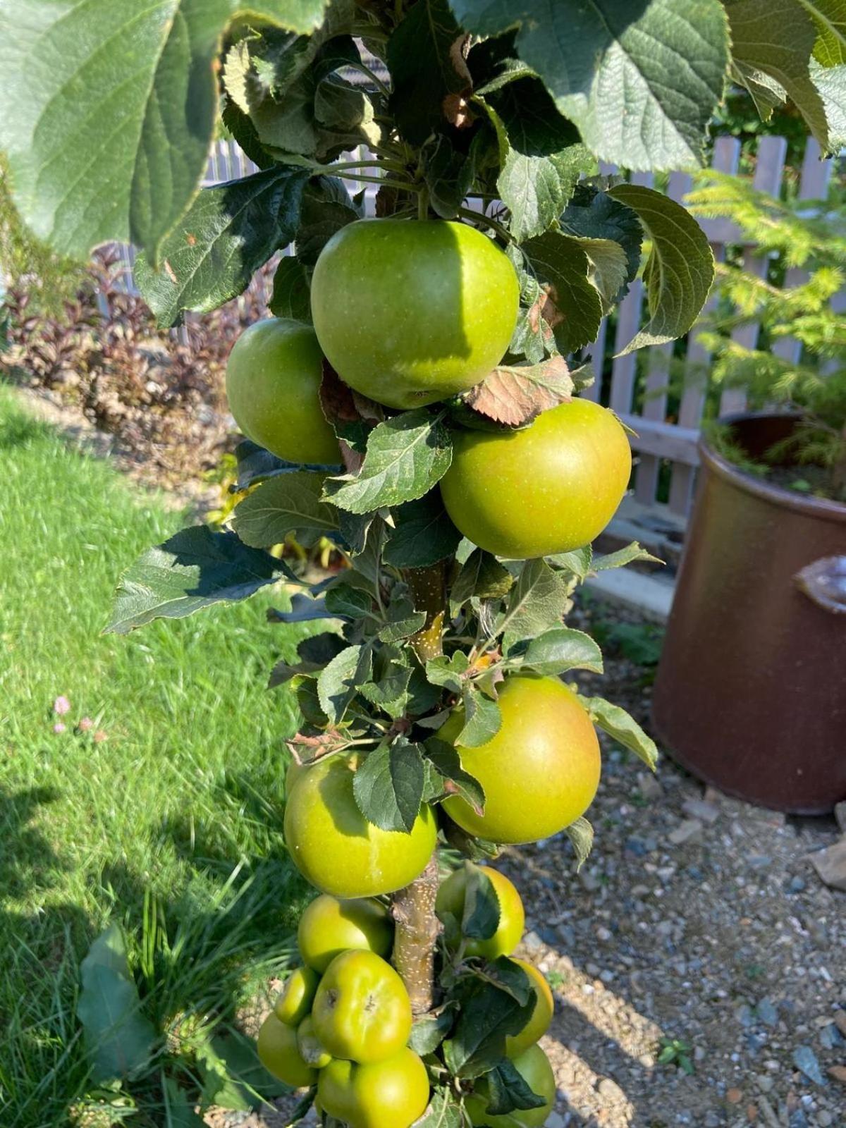
{"label": "pair of mid-trunk apples just above the lowest cluster", "polygon": [[[601,755],[593,724],[558,678],[514,673],[499,687],[500,731],[477,748],[461,747],[461,767],[485,791],[484,812],[460,795],[443,802],[467,834],[494,843],[549,838],[592,803]],[[464,728],[453,710],[438,735],[452,742]],[[285,844],[303,876],[335,897],[378,897],[409,884],[425,869],[438,837],[432,807],[421,803],[409,834],[382,830],[359,811],[353,777],[359,757],[324,757],[288,774]]]}

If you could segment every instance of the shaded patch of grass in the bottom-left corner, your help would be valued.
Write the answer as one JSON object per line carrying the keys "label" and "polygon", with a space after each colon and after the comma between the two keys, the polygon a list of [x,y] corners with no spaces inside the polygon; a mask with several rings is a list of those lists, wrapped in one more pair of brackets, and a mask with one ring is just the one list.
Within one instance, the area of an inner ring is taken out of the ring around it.
{"label": "shaded patch of grass in the bottom-left corner", "polygon": [[[111,918],[124,927],[141,1007],[158,1034],[149,1072],[126,1085],[140,1108],[132,1122],[159,1128],[162,1067],[197,1092],[186,1031],[213,1016],[222,1032],[215,1045],[233,1048],[244,1066],[252,1051],[237,1031],[245,1021],[249,1026],[248,1007],[262,987],[290,966],[310,895],[282,849],[233,867],[220,843],[183,841],[179,889],[153,895],[155,874],[115,862],[100,875],[103,910],[94,919],[77,905],[55,904],[65,864],[37,820],[49,818],[58,799],[49,788],[0,788],[0,1123],[67,1126],[69,1109],[96,1087],[76,1014],[81,961]],[[178,838],[178,828],[165,835]],[[24,896],[42,905],[12,911],[12,898]],[[259,1077],[250,1074],[250,1083]]]}

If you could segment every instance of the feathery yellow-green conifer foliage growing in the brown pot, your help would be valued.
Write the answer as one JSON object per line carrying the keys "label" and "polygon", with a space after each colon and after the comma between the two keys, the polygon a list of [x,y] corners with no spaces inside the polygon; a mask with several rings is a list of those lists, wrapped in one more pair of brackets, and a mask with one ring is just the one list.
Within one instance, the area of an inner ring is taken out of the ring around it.
{"label": "feathery yellow-green conifer foliage growing in the brown pot", "polygon": [[[688,196],[694,214],[733,220],[772,256],[766,279],[740,266],[717,266],[722,301],[700,337],[713,354],[711,380],[742,388],[752,411],[799,416],[795,431],[760,461],[732,450],[730,428],[716,428],[711,440],[751,473],[846,501],[846,328],[836,305],[846,283],[846,206],[839,200],[784,203],[739,177],[704,178],[711,183]],[[790,285],[785,274],[795,270],[808,276]],[[760,326],[756,347],[731,336],[750,324]]]}

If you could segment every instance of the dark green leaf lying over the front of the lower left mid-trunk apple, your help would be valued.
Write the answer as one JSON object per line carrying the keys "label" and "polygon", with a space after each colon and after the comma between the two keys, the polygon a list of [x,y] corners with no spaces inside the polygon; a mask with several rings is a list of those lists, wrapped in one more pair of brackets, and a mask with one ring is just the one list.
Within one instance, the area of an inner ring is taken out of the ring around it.
{"label": "dark green leaf lying over the front of the lower left mid-trunk apple", "polygon": [[423,783],[420,747],[399,738],[368,752],[353,776],[353,794],[368,822],[409,834],[420,813]]}

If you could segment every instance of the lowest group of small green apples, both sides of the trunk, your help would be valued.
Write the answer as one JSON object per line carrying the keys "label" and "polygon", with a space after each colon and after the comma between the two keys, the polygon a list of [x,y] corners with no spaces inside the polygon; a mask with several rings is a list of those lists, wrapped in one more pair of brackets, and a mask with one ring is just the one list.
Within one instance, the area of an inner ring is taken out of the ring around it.
{"label": "lowest group of small green apples, both sides of the trunk", "polygon": [[[453,954],[460,948],[459,959],[511,958],[525,924],[520,895],[499,871],[484,866],[482,872],[499,900],[497,928],[486,940],[461,936],[467,871],[460,869],[438,891],[447,945]],[[262,1063],[285,1084],[316,1085],[317,1107],[349,1128],[409,1128],[429,1104],[430,1083],[425,1064],[407,1045],[412,1007],[388,962],[394,943],[388,909],[373,898],[323,893],[303,913],[298,943],[303,963],[289,976],[258,1033]],[[490,1093],[483,1077],[467,1095],[466,1109],[474,1125],[490,1128],[543,1125],[555,1098],[552,1066],[537,1045],[552,1021],[553,995],[537,968],[513,962],[528,977],[532,1006],[522,1029],[505,1039],[505,1054],[545,1103],[520,1110],[518,1121],[492,1117],[485,1112]]]}

